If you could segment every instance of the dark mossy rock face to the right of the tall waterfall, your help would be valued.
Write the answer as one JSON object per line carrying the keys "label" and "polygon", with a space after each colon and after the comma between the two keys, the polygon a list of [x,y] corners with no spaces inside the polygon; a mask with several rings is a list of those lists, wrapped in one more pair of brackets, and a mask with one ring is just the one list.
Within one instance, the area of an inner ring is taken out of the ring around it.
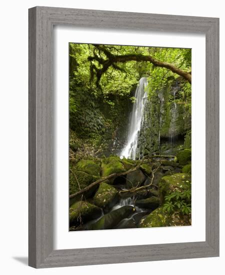
{"label": "dark mossy rock face to the right of the tall waterfall", "polygon": [[[152,92],[144,106],[137,156],[176,154],[183,148],[184,136],[191,128],[189,105],[183,100],[181,79],[169,79],[164,87]],[[186,135],[185,148],[190,148]]]}

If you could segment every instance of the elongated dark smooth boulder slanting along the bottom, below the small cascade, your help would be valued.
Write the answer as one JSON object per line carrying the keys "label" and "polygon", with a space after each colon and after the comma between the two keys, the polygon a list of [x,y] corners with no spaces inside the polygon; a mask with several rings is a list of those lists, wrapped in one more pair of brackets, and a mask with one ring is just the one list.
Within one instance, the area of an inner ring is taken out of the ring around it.
{"label": "elongated dark smooth boulder slanting along the bottom, below the small cascade", "polygon": [[113,210],[100,219],[98,219],[94,224],[92,224],[92,230],[98,229],[112,229],[116,224],[118,224],[123,218],[128,217],[135,211],[135,208],[130,205],[122,206],[116,210]]}

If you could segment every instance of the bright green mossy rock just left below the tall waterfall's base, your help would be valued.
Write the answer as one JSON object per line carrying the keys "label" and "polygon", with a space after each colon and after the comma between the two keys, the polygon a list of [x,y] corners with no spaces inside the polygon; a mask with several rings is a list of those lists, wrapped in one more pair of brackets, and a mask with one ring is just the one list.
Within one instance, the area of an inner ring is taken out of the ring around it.
{"label": "bright green mossy rock just left below the tall waterfall's base", "polygon": [[108,156],[102,160],[101,176],[107,176],[113,173],[125,172],[125,168],[118,156]]}

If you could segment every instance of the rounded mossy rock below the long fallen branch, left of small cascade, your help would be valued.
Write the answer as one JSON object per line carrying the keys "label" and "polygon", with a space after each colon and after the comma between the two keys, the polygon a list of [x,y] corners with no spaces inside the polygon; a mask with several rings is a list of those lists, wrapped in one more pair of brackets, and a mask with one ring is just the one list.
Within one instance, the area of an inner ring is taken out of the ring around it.
{"label": "rounded mossy rock below the long fallen branch, left of small cascade", "polygon": [[102,182],[93,197],[93,203],[101,208],[111,207],[116,202],[117,193],[114,187]]}

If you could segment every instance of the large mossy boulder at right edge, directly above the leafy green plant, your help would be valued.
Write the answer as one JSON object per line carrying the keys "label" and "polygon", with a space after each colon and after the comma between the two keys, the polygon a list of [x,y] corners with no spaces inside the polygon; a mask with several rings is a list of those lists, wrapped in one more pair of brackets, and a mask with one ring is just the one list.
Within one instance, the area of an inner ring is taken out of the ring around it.
{"label": "large mossy boulder at right edge, directly above the leafy green plant", "polygon": [[191,176],[189,173],[174,173],[172,175],[163,176],[158,184],[159,197],[161,204],[164,197],[175,191],[184,191],[191,189]]}

